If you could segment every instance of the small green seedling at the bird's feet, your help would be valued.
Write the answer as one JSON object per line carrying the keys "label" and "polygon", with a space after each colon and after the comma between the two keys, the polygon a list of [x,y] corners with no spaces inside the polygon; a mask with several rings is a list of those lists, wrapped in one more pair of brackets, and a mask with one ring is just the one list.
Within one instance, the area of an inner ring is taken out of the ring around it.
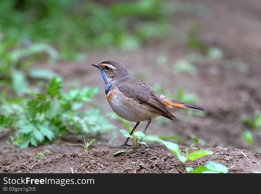
{"label": "small green seedling at the bird's feet", "polygon": [[123,153],[123,152],[131,152],[133,153],[134,151],[136,151],[139,146],[141,144],[147,146],[149,148],[149,145],[147,145],[147,143],[143,142],[143,141],[140,141],[142,138],[144,138],[145,134],[143,132],[140,132],[140,131],[136,131],[134,132],[132,135],[130,135],[128,133],[128,131],[124,130],[124,129],[121,129],[120,132],[122,133],[123,136],[127,137],[127,138],[131,138],[132,139],[132,142],[133,142],[133,146],[134,148],[132,150],[124,150],[124,149],[120,149],[118,150],[117,152],[115,152],[113,155],[117,155],[117,154],[120,154],[120,153]]}

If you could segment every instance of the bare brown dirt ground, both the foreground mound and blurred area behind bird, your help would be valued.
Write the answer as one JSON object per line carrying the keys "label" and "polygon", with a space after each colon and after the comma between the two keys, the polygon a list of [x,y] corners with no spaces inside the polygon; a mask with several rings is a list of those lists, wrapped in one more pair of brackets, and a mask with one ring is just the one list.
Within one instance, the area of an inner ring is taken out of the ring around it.
{"label": "bare brown dirt ground, both the foreground mound and blurred area behind bird", "polygon": [[[250,150],[242,137],[244,126],[243,114],[252,116],[254,110],[261,110],[261,1],[258,0],[194,0],[182,1],[205,7],[200,16],[180,14],[173,19],[174,33],[164,43],[147,43],[141,51],[108,51],[87,53],[82,62],[60,62],[55,65],[38,64],[62,75],[65,86],[78,83],[79,87],[96,86],[100,93],[94,103],[101,107],[102,113],[112,112],[104,93],[104,81],[100,72],[90,66],[106,60],[122,62],[130,74],[140,77],[149,85],[160,83],[163,88],[176,96],[177,88],[185,93],[197,94],[198,106],[207,109],[204,117],[193,116],[186,124],[186,114],[173,113],[177,119],[157,125],[152,120],[148,135],[178,136],[183,145],[191,145],[189,136],[193,133],[206,142],[204,149],[214,154],[197,159],[193,167],[214,161],[227,166],[229,173],[261,172],[261,154]],[[202,26],[198,38],[208,46],[223,51],[222,59],[201,59],[193,63],[198,69],[196,76],[173,74],[172,65],[176,60],[186,59],[194,51],[184,44],[179,32],[187,30],[191,23]],[[158,56],[167,58],[166,64],[155,65]],[[237,67],[227,67],[227,62],[240,58],[247,64],[248,71],[241,72]],[[120,145],[125,138],[119,130],[125,126],[113,120],[117,138],[112,145]],[[143,131],[146,122],[137,130]],[[133,124],[134,126],[134,124]],[[81,146],[66,145],[82,143],[82,140],[64,139],[59,145],[43,145],[37,148],[15,151],[5,143],[9,134],[0,136],[0,172],[2,173],[180,173],[180,163],[174,154],[163,145],[152,148],[140,148],[133,154],[113,156],[116,148],[109,148],[111,134],[96,140],[96,145],[89,152]],[[179,143],[180,144],[180,143]],[[184,146],[181,145],[182,153]],[[254,147],[261,147],[261,138],[254,136]],[[228,148],[228,149],[227,149]],[[33,160],[36,154],[45,149],[52,151],[46,159]],[[195,151],[199,148],[190,148]],[[242,149],[242,150],[241,150]],[[246,154],[246,158],[242,153]],[[184,167],[184,166],[183,166]],[[184,168],[183,168],[184,169]]]}

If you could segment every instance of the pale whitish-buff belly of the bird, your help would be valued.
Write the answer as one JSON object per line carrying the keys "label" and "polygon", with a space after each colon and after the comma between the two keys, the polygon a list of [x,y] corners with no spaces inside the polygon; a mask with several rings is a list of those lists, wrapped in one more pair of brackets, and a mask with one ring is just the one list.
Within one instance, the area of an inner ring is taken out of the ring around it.
{"label": "pale whitish-buff belly of the bird", "polygon": [[[130,98],[119,98],[117,94],[113,94],[112,98],[109,98],[107,95],[107,100],[112,108],[112,110],[121,118],[131,121],[131,122],[140,122],[146,121],[148,119],[159,116],[160,114],[151,112],[146,109],[142,104],[137,103],[136,101]],[[122,100],[124,99],[124,100]]]}

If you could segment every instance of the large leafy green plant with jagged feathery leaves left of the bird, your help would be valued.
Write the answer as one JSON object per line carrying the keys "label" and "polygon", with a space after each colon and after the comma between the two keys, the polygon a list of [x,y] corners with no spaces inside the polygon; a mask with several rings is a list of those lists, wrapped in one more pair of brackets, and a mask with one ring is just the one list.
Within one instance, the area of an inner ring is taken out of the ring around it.
{"label": "large leafy green plant with jagged feathery leaves left of the bird", "polygon": [[[53,77],[45,93],[32,93],[31,99],[13,102],[2,93],[0,128],[15,131],[19,147],[48,143],[62,135],[96,134],[108,132],[113,126],[97,109],[82,112],[83,104],[90,104],[97,88],[73,89],[62,92],[61,78]],[[90,104],[91,105],[91,104]]]}

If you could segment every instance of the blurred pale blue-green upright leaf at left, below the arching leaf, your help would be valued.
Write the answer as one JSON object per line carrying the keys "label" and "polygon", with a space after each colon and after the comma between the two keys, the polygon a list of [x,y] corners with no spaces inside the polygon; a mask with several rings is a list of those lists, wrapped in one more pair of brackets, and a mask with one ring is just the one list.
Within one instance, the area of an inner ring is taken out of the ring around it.
{"label": "blurred pale blue-green upright leaf at left, below the arching leaf", "polygon": [[18,96],[23,96],[28,91],[28,82],[23,72],[12,70],[12,88]]}

